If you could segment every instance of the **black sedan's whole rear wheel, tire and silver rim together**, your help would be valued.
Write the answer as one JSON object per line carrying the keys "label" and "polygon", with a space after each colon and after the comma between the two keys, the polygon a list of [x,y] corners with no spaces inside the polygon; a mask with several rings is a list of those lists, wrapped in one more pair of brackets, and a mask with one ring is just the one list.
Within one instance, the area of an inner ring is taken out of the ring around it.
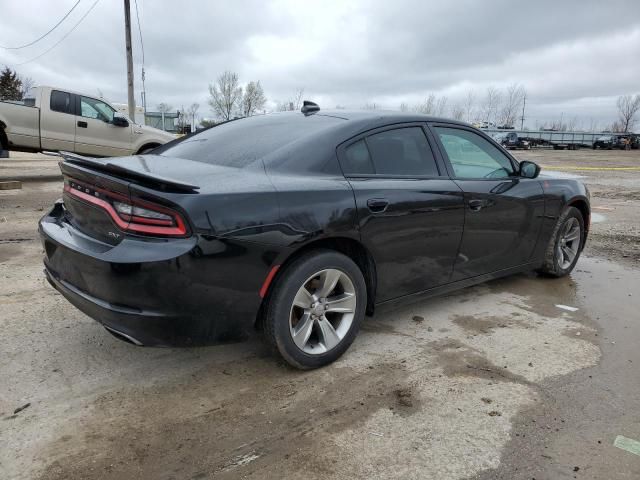
{"label": "black sedan's whole rear wheel, tire and silver rim together", "polygon": [[338,359],[360,329],[367,289],[347,256],[316,250],[279,276],[264,318],[267,340],[290,365],[308,370]]}

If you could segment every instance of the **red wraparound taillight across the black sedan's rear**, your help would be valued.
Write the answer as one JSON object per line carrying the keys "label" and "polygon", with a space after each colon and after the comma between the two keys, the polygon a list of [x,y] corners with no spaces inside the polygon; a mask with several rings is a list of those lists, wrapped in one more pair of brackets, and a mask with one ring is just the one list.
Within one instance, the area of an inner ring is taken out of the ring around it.
{"label": "red wraparound taillight across the black sedan's rear", "polygon": [[163,205],[146,200],[130,200],[119,193],[90,187],[73,180],[65,182],[64,191],[102,208],[122,230],[162,237],[187,235],[187,226],[182,216]]}

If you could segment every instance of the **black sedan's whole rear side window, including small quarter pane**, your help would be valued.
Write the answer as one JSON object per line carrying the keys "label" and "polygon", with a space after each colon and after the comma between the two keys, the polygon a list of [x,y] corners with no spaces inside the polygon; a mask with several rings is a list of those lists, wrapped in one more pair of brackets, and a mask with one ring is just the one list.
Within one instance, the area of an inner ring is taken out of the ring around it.
{"label": "black sedan's whole rear side window, including small quarter pane", "polygon": [[345,150],[345,174],[399,176],[439,175],[435,158],[420,127],[405,127],[370,135]]}

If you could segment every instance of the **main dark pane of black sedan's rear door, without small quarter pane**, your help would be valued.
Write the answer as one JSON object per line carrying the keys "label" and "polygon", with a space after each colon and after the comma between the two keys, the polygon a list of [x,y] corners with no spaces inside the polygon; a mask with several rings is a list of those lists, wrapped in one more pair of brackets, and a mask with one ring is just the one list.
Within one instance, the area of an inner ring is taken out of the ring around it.
{"label": "main dark pane of black sedan's rear door, without small quarter pane", "polygon": [[367,137],[378,175],[438,176],[438,167],[420,127],[386,130]]}

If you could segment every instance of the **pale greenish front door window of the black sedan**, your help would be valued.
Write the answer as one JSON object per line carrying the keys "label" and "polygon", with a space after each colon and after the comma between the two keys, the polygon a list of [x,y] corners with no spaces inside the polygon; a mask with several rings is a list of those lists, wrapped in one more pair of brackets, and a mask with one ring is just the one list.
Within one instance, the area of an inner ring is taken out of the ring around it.
{"label": "pale greenish front door window of the black sedan", "polygon": [[435,128],[458,178],[503,178],[513,174],[509,158],[477,133]]}

